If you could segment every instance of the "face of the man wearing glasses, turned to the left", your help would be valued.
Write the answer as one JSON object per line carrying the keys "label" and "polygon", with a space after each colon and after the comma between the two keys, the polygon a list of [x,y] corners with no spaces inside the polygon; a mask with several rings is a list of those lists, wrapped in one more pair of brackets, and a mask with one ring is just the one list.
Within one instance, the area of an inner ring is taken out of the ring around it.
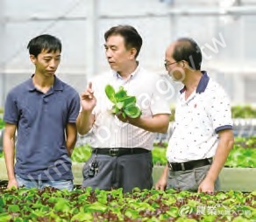
{"label": "face of the man wearing glasses, turned to the left", "polygon": [[174,59],[174,47],[175,43],[167,47],[165,59],[166,70],[174,81],[183,81],[185,78],[184,62]]}

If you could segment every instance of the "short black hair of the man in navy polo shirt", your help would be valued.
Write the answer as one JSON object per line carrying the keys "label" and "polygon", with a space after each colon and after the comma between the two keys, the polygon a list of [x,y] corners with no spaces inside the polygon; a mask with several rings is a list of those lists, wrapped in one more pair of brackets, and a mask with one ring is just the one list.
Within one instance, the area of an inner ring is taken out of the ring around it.
{"label": "short black hair of the man in navy polo shirt", "polygon": [[43,50],[46,50],[46,52],[56,52],[59,50],[61,52],[61,42],[59,38],[52,35],[39,35],[29,41],[27,49],[31,55],[37,57]]}

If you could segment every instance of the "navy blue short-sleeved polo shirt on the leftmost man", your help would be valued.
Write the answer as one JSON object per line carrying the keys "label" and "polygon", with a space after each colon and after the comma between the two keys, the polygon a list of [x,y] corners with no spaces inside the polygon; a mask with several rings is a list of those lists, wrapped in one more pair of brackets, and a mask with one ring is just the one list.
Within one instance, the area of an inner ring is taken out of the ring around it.
{"label": "navy blue short-sleeved polo shirt on the leftmost man", "polygon": [[80,98],[73,87],[54,78],[46,94],[30,79],[6,98],[4,121],[18,127],[15,173],[24,179],[73,179],[65,128],[68,122],[75,123]]}

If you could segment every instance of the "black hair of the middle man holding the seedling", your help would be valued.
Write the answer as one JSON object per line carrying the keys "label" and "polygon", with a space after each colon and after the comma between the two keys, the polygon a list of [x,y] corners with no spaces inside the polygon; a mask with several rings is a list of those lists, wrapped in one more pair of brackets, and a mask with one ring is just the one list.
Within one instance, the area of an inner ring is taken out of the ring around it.
{"label": "black hair of the middle man holding the seedling", "polygon": [[127,24],[119,24],[117,26],[113,26],[110,30],[106,31],[104,34],[105,41],[112,35],[120,35],[124,38],[124,45],[126,49],[131,49],[134,47],[137,50],[135,58],[139,55],[139,51],[142,45],[142,38],[139,35],[139,32]]}

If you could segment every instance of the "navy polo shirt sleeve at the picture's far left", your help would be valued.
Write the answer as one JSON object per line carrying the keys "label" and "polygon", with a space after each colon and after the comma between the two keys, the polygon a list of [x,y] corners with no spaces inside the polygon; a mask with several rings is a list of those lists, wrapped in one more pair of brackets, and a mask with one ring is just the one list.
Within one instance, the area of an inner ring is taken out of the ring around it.
{"label": "navy polo shirt sleeve at the picture's far left", "polygon": [[15,99],[15,94],[11,91],[5,100],[4,106],[4,121],[11,124],[18,124],[18,107]]}

